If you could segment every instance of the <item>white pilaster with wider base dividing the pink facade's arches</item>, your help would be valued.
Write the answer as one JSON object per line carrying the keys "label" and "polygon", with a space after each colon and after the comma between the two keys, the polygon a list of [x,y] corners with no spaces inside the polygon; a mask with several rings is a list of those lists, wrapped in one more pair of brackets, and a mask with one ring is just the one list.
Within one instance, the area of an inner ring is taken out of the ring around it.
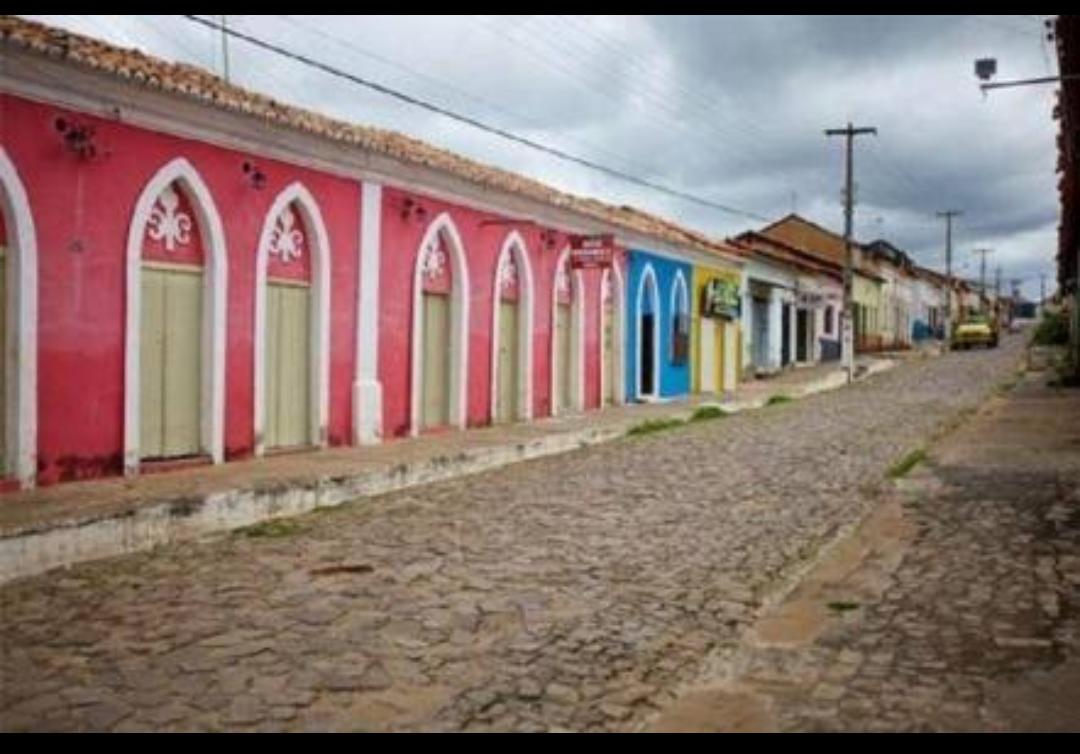
{"label": "white pilaster with wider base dividing the pink facade's arches", "polygon": [[382,247],[382,185],[361,186],[360,297],[356,307],[356,378],[352,383],[353,444],[382,437],[379,382],[379,254]]}

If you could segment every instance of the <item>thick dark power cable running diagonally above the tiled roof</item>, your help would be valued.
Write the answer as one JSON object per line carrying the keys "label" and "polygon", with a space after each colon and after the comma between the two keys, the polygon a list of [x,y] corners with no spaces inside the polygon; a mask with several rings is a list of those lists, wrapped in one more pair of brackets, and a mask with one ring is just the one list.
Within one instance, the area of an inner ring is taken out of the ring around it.
{"label": "thick dark power cable running diagonally above the tiled roof", "polygon": [[254,37],[252,35],[248,35],[248,33],[245,33],[245,32],[242,32],[242,31],[238,31],[237,29],[222,28],[219,24],[215,24],[214,22],[206,21],[206,19],[201,18],[201,17],[195,16],[195,15],[184,14],[184,17],[187,18],[188,21],[191,21],[191,22],[195,23],[195,24],[200,24],[200,25],[205,26],[205,27],[211,28],[211,29],[216,29],[216,30],[220,31],[221,33],[228,35],[229,37],[233,37],[235,39],[240,39],[240,40],[242,40],[244,42],[247,42],[248,44],[251,44],[253,46],[259,48],[261,50],[266,50],[268,52],[275,53],[278,55],[282,55],[282,56],[287,57],[287,58],[289,58],[292,60],[295,60],[295,62],[300,63],[302,65],[309,66],[311,68],[315,68],[318,70],[321,70],[321,71],[323,71],[325,73],[328,73],[330,76],[334,76],[336,78],[351,81],[352,83],[359,84],[361,86],[364,86],[366,89],[373,90],[373,91],[378,92],[380,94],[384,94],[384,95],[387,95],[389,97],[392,97],[394,99],[397,99],[400,102],[404,102],[404,103],[413,105],[415,107],[419,107],[421,109],[428,110],[429,112],[434,112],[436,115],[443,116],[444,118],[448,118],[448,119],[457,121],[459,123],[463,123],[465,125],[470,125],[470,126],[472,126],[474,129],[478,129],[481,131],[484,131],[486,133],[492,134],[495,136],[499,136],[500,138],[503,138],[503,139],[505,139],[508,142],[513,142],[515,144],[519,144],[522,146],[529,147],[530,149],[534,149],[536,151],[544,152],[544,153],[550,154],[552,157],[558,158],[559,160],[564,160],[566,162],[572,162],[572,163],[576,163],[576,164],[581,165],[583,167],[588,167],[590,170],[593,170],[593,171],[596,171],[596,172],[599,172],[599,173],[604,173],[604,174],[609,175],[611,177],[619,178],[620,180],[624,180],[626,183],[635,184],[637,186],[642,186],[643,188],[648,188],[648,189],[651,189],[653,191],[659,191],[661,193],[665,193],[667,196],[675,197],[677,199],[681,199],[681,200],[685,200],[685,201],[688,201],[688,202],[692,202],[694,204],[706,206],[706,207],[710,207],[710,208],[713,208],[713,210],[718,210],[720,212],[725,212],[725,213],[728,213],[728,214],[731,214],[731,215],[739,215],[739,216],[742,216],[742,217],[748,217],[751,219],[759,220],[759,221],[766,221],[766,223],[769,221],[769,219],[767,217],[764,217],[762,215],[758,215],[757,213],[750,212],[747,210],[740,210],[738,207],[729,206],[727,204],[720,204],[719,202],[714,202],[712,200],[703,199],[701,197],[696,197],[696,196],[693,196],[691,193],[687,193],[685,191],[680,191],[678,189],[674,189],[674,188],[671,188],[669,186],[664,186],[662,184],[654,183],[654,181],[649,180],[647,178],[640,178],[640,177],[638,177],[636,175],[632,175],[632,174],[626,173],[624,171],[621,171],[621,170],[618,170],[618,169],[615,169],[615,167],[609,167],[609,166],[604,165],[604,164],[598,163],[598,162],[594,162],[593,160],[589,160],[589,159],[585,159],[585,158],[582,158],[582,157],[578,157],[576,154],[571,154],[571,153],[566,152],[566,151],[564,151],[562,149],[557,149],[555,147],[550,147],[550,146],[548,146],[545,144],[541,144],[540,142],[536,142],[536,140],[534,140],[531,138],[527,138],[527,137],[524,137],[524,136],[518,136],[518,135],[513,134],[513,133],[511,133],[511,132],[509,132],[509,131],[507,131],[504,129],[500,129],[498,126],[488,125],[487,123],[484,123],[483,121],[476,120],[475,118],[472,118],[470,116],[461,115],[461,113],[456,112],[454,110],[449,110],[447,108],[444,108],[444,107],[441,107],[441,106],[435,105],[433,103],[430,103],[430,102],[428,102],[426,99],[421,99],[419,97],[415,97],[415,96],[413,96],[410,94],[406,94],[404,92],[401,92],[399,90],[392,89],[392,87],[387,86],[384,84],[380,84],[380,83],[378,83],[376,81],[372,81],[369,79],[365,79],[363,77],[355,76],[353,73],[350,73],[348,71],[341,70],[341,69],[336,68],[334,66],[330,66],[330,65],[327,65],[325,63],[321,63],[319,60],[315,60],[315,59],[313,59],[311,57],[308,57],[307,55],[301,55],[301,54],[295,53],[295,52],[293,52],[291,50],[286,50],[285,48],[282,48],[280,45],[273,44],[271,42],[267,42],[266,40],[259,39],[258,37]]}

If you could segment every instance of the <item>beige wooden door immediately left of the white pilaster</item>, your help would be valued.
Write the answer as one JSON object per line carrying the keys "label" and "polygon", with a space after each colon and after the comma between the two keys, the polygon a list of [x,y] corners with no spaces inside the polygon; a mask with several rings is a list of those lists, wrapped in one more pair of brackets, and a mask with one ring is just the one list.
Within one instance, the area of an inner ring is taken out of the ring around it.
{"label": "beige wooden door immediately left of the white pilaster", "polygon": [[311,444],[311,288],[267,284],[267,447]]}

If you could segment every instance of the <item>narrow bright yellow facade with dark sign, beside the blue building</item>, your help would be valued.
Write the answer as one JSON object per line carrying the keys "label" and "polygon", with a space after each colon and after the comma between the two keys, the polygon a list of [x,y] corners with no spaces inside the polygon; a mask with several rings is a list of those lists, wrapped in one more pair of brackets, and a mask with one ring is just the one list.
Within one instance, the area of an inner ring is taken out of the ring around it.
{"label": "narrow bright yellow facade with dark sign, beside the blue building", "polygon": [[741,277],[735,269],[693,268],[690,389],[696,393],[734,390],[739,383]]}

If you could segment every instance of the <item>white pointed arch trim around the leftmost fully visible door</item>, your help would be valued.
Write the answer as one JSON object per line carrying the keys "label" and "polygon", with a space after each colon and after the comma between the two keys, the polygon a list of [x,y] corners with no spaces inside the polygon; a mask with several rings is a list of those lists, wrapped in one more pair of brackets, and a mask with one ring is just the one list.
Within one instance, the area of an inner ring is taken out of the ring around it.
{"label": "white pointed arch trim around the leftmost fully visible door", "polygon": [[198,171],[184,158],[159,170],[143,188],[127,230],[126,299],[124,325],[124,473],[138,472],[139,450],[139,323],[141,320],[143,235],[154,202],[166,186],[176,181],[187,192],[202,234],[203,322],[202,399],[200,401],[202,450],[215,463],[225,450],[225,299],[228,290],[228,254],[225,229],[214,199]]}

